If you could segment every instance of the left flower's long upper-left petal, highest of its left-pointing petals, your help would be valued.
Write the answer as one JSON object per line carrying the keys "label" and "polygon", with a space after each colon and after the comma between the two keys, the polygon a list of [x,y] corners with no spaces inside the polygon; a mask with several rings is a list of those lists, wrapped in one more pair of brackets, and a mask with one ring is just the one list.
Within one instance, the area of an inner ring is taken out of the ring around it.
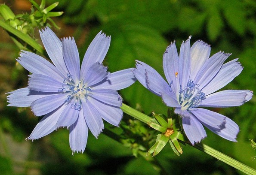
{"label": "left flower's long upper-left petal, highest of its left-pointing petals", "polygon": [[40,57],[37,54],[31,53],[29,51],[22,51],[20,53],[19,60],[17,61],[29,72],[33,74],[42,74],[54,78],[58,81],[63,81],[65,76],[53,66],[52,63]]}

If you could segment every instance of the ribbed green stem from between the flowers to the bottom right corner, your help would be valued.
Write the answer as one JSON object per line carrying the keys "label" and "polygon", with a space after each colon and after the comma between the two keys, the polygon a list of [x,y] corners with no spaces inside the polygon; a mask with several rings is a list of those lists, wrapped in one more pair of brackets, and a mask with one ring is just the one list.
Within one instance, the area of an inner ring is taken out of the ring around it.
{"label": "ribbed green stem from between the flowers to the bottom right corner", "polygon": [[[138,119],[139,121],[142,121],[146,124],[148,124],[151,121],[151,117],[148,115],[143,114],[142,112],[137,111],[136,109],[131,108],[130,106],[127,106],[126,104],[123,104],[121,107],[124,113]],[[179,139],[179,138],[178,138]],[[185,141],[185,140],[182,140]],[[188,144],[190,145],[190,144]],[[205,144],[199,143],[193,146],[194,148],[197,148],[200,151],[203,151],[206,154],[209,154],[212,157],[215,157],[218,160],[221,160],[222,162],[234,167],[235,169],[240,170],[241,172],[246,173],[247,175],[256,175],[256,170],[244,165],[243,163],[234,160],[233,158],[211,148],[210,146],[207,146]]]}

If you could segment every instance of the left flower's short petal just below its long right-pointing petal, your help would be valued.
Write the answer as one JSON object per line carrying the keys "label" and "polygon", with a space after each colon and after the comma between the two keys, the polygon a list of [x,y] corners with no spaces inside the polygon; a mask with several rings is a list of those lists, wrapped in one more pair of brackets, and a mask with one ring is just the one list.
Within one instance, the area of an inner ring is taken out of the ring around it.
{"label": "left flower's short petal just below its long right-pointing petal", "polygon": [[106,103],[111,106],[122,106],[122,98],[117,93],[117,91],[111,89],[93,89],[93,91],[90,92],[89,97],[92,97],[96,100],[99,100],[102,103]]}

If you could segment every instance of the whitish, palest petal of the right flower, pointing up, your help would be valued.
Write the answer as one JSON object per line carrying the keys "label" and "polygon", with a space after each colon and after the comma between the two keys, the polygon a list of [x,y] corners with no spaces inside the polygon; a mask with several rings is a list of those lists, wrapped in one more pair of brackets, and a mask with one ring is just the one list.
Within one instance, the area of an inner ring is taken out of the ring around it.
{"label": "whitish, palest petal of the right flower, pointing up", "polygon": [[197,72],[210,57],[211,47],[207,43],[198,40],[191,47],[191,73],[190,79],[194,80]]}

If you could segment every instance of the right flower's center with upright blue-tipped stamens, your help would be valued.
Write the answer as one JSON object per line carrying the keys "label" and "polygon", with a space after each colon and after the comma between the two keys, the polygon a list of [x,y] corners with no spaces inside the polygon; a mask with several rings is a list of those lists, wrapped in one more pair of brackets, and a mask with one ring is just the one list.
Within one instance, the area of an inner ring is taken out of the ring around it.
{"label": "right flower's center with upright blue-tipped stamens", "polygon": [[199,90],[199,84],[194,84],[193,80],[189,79],[185,89],[180,86],[179,90],[179,105],[181,110],[189,110],[199,106],[202,100],[206,99],[204,92]]}

